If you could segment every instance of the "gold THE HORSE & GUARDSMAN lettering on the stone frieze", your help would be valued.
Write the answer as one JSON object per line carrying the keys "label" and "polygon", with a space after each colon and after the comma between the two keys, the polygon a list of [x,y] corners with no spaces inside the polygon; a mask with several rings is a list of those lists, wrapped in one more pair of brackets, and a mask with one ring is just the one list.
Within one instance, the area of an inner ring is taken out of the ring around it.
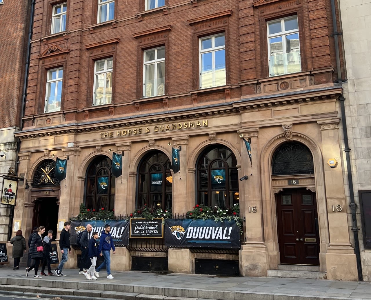
{"label": "gold THE HORSE & GUARDSMAN lettering on the stone frieze", "polygon": [[173,124],[165,124],[165,125],[154,125],[149,127],[135,127],[135,128],[128,128],[128,129],[118,129],[115,131],[105,131],[101,132],[101,138],[116,138],[118,136],[131,136],[131,135],[140,135],[144,133],[152,133],[152,132],[167,132],[173,130],[181,130],[181,129],[190,129],[190,128],[198,128],[198,127],[207,127],[208,120],[201,120],[201,121],[190,121],[190,122],[182,122],[182,123],[173,123]]}

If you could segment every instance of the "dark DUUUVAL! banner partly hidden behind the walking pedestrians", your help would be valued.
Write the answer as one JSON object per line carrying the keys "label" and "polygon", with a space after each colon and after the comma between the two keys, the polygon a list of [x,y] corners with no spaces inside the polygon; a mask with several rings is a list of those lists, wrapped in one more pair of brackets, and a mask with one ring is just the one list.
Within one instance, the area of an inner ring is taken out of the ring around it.
{"label": "dark DUUUVAL! banner partly hidden behind the walking pedestrians", "polygon": [[115,246],[127,246],[129,245],[129,221],[128,220],[89,220],[89,221],[71,221],[71,237],[70,244],[77,245],[77,236],[81,234],[85,229],[86,225],[92,225],[92,231],[98,232],[98,240],[101,237],[102,231],[104,231],[104,225],[109,224],[111,227],[112,240]]}

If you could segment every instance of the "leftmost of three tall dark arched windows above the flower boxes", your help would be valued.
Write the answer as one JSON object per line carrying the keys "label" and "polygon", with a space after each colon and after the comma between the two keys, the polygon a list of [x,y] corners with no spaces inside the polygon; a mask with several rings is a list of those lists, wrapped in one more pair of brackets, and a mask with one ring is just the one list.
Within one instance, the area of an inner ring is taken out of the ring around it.
{"label": "leftmost of three tall dark arched windows above the flower boxes", "polygon": [[111,176],[111,165],[111,159],[103,155],[96,157],[89,165],[85,184],[86,208],[114,209],[116,178]]}

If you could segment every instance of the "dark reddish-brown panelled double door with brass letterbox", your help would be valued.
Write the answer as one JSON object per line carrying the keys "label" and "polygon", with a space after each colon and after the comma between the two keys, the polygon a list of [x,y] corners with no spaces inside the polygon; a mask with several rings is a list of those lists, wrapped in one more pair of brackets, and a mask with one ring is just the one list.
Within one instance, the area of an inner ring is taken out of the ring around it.
{"label": "dark reddish-brown panelled double door with brass letterbox", "polygon": [[276,195],[281,264],[319,264],[315,193],[287,189]]}

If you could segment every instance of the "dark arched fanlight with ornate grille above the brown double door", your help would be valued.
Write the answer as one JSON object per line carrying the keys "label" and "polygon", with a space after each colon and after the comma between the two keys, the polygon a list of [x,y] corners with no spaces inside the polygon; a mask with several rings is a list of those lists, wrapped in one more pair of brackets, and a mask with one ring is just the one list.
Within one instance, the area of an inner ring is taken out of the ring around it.
{"label": "dark arched fanlight with ornate grille above the brown double door", "polygon": [[298,142],[280,145],[272,158],[272,175],[313,174],[313,156]]}

